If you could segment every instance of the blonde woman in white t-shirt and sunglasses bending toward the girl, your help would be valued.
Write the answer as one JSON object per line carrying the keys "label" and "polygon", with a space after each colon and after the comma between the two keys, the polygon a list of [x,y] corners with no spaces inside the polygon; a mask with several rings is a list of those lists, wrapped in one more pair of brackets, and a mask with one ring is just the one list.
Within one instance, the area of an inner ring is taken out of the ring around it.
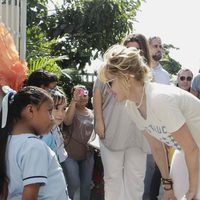
{"label": "blonde woman in white t-shirt and sunglasses bending toward the girl", "polygon": [[[150,82],[135,48],[111,47],[98,76],[118,101],[128,100],[127,114],[144,131],[161,171],[164,200],[200,199],[200,101],[178,87]],[[163,143],[176,149],[172,177]]]}

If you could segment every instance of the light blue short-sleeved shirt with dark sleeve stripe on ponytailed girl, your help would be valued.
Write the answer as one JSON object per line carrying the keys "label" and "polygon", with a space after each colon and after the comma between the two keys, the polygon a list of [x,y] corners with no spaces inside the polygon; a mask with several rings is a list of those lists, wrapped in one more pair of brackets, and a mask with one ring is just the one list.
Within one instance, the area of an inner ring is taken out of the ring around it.
{"label": "light blue short-sleeved shirt with dark sleeve stripe on ponytailed girl", "polygon": [[41,183],[39,200],[67,200],[67,189],[55,153],[33,134],[12,135],[6,149],[8,199],[21,200],[25,185]]}

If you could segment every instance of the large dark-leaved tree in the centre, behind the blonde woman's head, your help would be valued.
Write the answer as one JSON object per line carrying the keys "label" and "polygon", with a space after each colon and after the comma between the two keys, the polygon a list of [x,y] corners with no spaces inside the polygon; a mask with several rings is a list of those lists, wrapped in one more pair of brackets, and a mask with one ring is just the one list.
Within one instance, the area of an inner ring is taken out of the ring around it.
{"label": "large dark-leaved tree in the centre, behind the blonde woman's head", "polygon": [[132,22],[140,4],[139,0],[65,1],[48,21],[48,38],[61,38],[52,54],[67,55],[69,60],[61,63],[62,67],[77,67],[83,73],[91,58],[98,57],[133,30]]}

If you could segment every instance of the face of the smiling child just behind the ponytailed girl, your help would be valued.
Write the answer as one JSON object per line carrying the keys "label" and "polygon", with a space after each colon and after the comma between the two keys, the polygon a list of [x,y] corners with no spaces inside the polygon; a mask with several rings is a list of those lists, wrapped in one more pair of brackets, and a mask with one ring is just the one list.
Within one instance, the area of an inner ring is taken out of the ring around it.
{"label": "face of the smiling child just behind the ponytailed girl", "polygon": [[66,113],[66,108],[67,108],[66,101],[62,104],[54,106],[52,114],[54,116],[54,121],[56,125],[60,125],[63,122]]}

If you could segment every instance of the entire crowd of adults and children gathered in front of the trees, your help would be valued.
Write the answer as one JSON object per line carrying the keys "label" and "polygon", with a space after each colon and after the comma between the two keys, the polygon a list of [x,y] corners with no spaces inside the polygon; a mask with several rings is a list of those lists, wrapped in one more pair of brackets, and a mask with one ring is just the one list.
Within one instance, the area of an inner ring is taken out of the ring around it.
{"label": "entire crowd of adults and children gathered in front of the trees", "polygon": [[0,199],[95,200],[100,170],[99,200],[200,200],[200,74],[182,68],[170,83],[159,37],[130,34],[106,51],[93,109],[85,85],[66,94],[54,73],[27,77],[11,43],[0,59],[12,64],[0,69]]}

